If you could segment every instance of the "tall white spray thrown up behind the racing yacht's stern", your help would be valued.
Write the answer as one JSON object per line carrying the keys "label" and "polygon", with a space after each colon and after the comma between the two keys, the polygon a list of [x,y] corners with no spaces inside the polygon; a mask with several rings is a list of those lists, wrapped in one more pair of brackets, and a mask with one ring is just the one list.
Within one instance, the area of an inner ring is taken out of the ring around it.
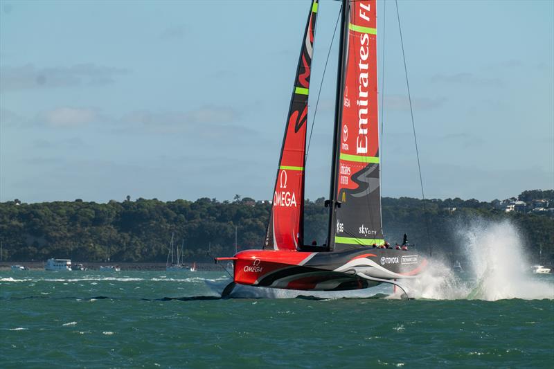
{"label": "tall white spray thrown up behind the racing yacht's stern", "polygon": [[554,299],[554,283],[538,280],[530,273],[524,244],[514,224],[479,219],[469,227],[458,228],[457,233],[467,255],[465,273],[454,273],[441,260],[430,260],[421,278],[406,282],[415,298]]}

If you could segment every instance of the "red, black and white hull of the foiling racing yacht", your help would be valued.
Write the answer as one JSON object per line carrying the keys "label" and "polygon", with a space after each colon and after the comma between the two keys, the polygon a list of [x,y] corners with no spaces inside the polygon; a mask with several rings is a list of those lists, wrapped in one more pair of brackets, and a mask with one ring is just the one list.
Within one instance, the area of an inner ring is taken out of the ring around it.
{"label": "red, black and white hull of the foiling racing yacht", "polygon": [[413,278],[427,260],[412,251],[350,249],[300,252],[247,250],[233,258],[234,282],[241,285],[311,291],[344,291],[379,285],[379,280]]}

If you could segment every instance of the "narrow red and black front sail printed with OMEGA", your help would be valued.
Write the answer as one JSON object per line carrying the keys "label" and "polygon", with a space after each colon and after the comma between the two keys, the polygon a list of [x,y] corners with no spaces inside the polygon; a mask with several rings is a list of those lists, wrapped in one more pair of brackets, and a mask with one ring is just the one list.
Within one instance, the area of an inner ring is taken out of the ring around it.
{"label": "narrow red and black front sail printed with OMEGA", "polygon": [[307,97],[318,1],[308,15],[279,159],[264,249],[296,250],[303,243]]}

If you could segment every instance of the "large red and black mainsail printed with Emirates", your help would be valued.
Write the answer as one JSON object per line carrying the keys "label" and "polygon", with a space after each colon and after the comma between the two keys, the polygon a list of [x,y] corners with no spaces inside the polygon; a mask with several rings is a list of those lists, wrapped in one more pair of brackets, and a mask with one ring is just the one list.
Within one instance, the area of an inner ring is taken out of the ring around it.
{"label": "large red and black mainsail printed with Emirates", "polygon": [[375,0],[349,1],[334,249],[381,244]]}

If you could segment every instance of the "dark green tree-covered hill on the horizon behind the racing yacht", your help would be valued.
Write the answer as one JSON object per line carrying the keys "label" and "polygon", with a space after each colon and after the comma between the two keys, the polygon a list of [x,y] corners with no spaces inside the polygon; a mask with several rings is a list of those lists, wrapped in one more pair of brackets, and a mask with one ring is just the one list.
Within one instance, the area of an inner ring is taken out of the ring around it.
{"label": "dark green tree-covered hill on the horizon behind the racing yacht", "polygon": [[[554,192],[554,191],[550,191]],[[542,191],[523,192],[533,200],[554,197]],[[554,200],[554,199],[551,199]],[[323,198],[305,201],[305,241],[325,242],[327,211]],[[524,235],[531,259],[542,249],[543,262],[554,259],[554,218],[551,213],[506,213],[493,203],[474,199],[431,199],[402,197],[382,199],[386,239],[399,242],[408,233],[410,241],[423,250],[457,258],[461,253],[455,229],[474,219],[510,219]],[[0,240],[3,260],[165,262],[172,233],[175,244],[184,242],[185,259],[208,261],[211,255],[231,255],[235,227],[238,249],[262,245],[270,204],[251,198],[235,201],[202,198],[196,201],[137,199],[107,204],[75,201],[0,204]],[[427,232],[429,230],[429,233]]]}

